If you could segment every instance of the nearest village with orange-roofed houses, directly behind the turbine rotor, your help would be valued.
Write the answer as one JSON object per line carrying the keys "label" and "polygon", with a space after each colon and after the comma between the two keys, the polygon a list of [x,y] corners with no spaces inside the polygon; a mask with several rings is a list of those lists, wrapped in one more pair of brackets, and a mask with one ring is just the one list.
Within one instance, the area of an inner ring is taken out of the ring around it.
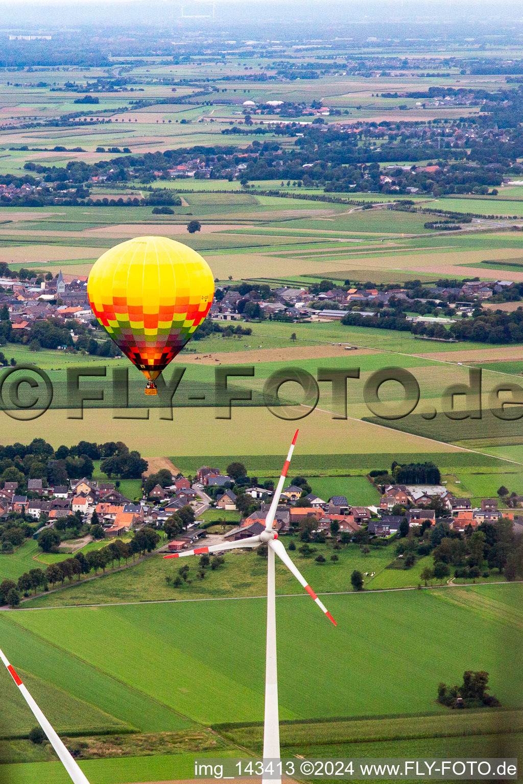
{"label": "nearest village with orange-roofed houses, directly behind the turbine rotor", "polygon": [[[37,540],[45,530],[56,528],[63,534],[64,542],[60,546],[67,548],[70,544],[74,546],[74,541],[70,543],[71,537],[65,532],[78,528],[78,524],[90,532],[81,541],[81,546],[85,546],[95,538],[118,538],[143,527],[170,532],[173,516],[187,510],[189,514],[182,514],[184,524],[180,525],[176,537],[162,543],[169,552],[185,550],[207,536],[205,529],[209,524],[202,515],[209,509],[239,513],[237,525],[231,525],[230,516],[223,515],[223,541],[246,539],[265,528],[273,495],[272,481],[265,482],[266,486],[247,486],[249,477],[233,478],[209,466],[199,468],[194,481],[178,474],[171,475],[169,482],[166,473],[163,470],[153,475],[162,478],[162,483],[154,486],[151,480],[148,485],[144,480],[143,496],[136,499],[126,498],[119,492],[118,481],[101,482],[84,477],[70,480],[67,485],[45,486],[47,483],[42,479],[28,479],[24,494],[17,482],[5,481],[0,490],[0,521],[8,521],[13,514],[36,521],[34,539]],[[455,536],[468,536],[481,524],[496,524],[501,518],[511,521],[514,534],[523,532],[523,510],[518,514],[523,496],[508,495],[508,491],[505,494],[506,488],[500,488],[498,499],[481,499],[480,506],[472,507],[470,499],[456,497],[445,484],[386,485],[378,505],[361,506],[358,499],[349,501],[345,495],[322,499],[307,492],[303,477],[299,481],[306,489],[291,483],[281,493],[274,518],[278,535],[298,533],[303,541],[328,538],[361,543],[374,538],[405,536],[409,531],[422,535],[439,524]],[[373,482],[370,476],[369,481]],[[216,519],[220,522],[220,514]],[[95,527],[97,530],[93,530]],[[213,543],[216,541],[220,539],[215,535]]]}

